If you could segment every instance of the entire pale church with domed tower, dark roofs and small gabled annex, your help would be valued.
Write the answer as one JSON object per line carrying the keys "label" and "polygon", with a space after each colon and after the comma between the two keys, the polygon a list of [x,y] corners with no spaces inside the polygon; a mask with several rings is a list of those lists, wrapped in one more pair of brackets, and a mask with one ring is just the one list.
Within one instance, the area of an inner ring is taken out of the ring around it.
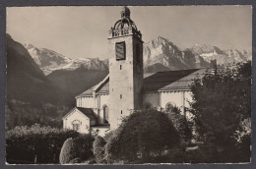
{"label": "entire pale church with domed tower, dark roofs and small gabled annex", "polygon": [[[127,7],[110,28],[108,45],[109,75],[76,96],[76,107],[62,118],[64,129],[104,136],[116,129],[125,116],[142,109],[164,111],[177,106],[189,116],[186,107],[192,100],[190,85],[211,69],[144,74],[142,33]],[[212,66],[216,64],[216,60],[211,62]]]}

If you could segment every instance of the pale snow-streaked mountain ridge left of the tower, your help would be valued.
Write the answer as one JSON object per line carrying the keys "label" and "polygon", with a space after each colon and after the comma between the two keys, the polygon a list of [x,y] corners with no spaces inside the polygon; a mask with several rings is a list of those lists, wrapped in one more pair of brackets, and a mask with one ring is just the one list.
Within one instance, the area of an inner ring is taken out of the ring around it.
{"label": "pale snow-streaked mountain ridge left of the tower", "polygon": [[98,58],[71,59],[55,51],[38,48],[32,44],[24,44],[24,46],[45,75],[56,70],[76,70],[78,68],[96,71],[108,70],[106,60],[101,61]]}

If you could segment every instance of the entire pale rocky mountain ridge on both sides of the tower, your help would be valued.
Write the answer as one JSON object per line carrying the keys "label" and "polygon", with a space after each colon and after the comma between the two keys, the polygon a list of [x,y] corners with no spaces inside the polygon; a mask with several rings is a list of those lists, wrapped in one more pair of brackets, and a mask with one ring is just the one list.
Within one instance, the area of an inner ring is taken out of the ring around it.
{"label": "entire pale rocky mountain ridge on both sides of the tower", "polygon": [[[32,55],[32,59],[45,75],[57,70],[108,70],[108,60],[98,58],[71,59],[55,51],[38,48],[32,44],[24,44]],[[237,49],[221,49],[207,44],[195,44],[191,48],[181,50],[170,40],[157,37],[144,44],[145,72],[158,72],[180,69],[208,67],[211,60],[217,59],[219,65],[251,60],[251,51]]]}

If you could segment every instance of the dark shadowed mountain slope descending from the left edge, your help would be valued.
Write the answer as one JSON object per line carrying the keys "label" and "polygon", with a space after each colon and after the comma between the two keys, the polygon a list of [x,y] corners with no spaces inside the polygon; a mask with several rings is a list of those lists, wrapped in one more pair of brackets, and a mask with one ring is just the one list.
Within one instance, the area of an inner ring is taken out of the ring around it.
{"label": "dark shadowed mountain slope descending from the left edge", "polygon": [[25,102],[63,103],[69,94],[52,84],[28,50],[7,34],[7,99]]}

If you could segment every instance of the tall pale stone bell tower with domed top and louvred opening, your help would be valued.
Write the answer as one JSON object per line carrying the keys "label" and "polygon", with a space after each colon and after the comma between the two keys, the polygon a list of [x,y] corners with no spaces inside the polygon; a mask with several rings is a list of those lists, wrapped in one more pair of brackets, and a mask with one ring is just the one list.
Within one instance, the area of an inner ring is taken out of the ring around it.
{"label": "tall pale stone bell tower with domed top and louvred opening", "polygon": [[123,7],[121,19],[109,30],[109,123],[116,129],[123,117],[142,109],[142,34]]}

